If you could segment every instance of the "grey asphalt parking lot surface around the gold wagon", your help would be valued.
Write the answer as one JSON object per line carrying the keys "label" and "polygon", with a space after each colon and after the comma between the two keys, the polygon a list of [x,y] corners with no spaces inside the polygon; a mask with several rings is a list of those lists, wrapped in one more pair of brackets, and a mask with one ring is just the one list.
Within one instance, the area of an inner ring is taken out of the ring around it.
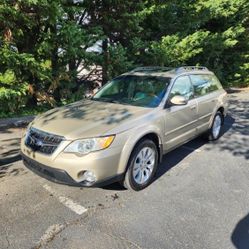
{"label": "grey asphalt parking lot surface around the gold wagon", "polygon": [[140,192],[78,188],[23,166],[20,128],[0,131],[0,248],[249,248],[249,91],[229,96],[224,134],[164,156]]}

